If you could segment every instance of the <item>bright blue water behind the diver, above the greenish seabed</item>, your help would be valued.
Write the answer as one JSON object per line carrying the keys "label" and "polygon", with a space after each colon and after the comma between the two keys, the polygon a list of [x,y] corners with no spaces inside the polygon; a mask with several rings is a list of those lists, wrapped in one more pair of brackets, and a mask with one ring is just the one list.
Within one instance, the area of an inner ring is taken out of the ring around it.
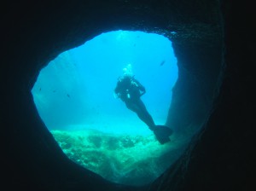
{"label": "bright blue water behind the diver, above the greenish seabed", "polygon": [[146,88],[142,100],[156,124],[165,124],[177,81],[172,42],[154,33],[102,33],[50,61],[32,89],[38,113],[49,130],[97,129],[150,134],[146,124],[114,98],[123,68]]}

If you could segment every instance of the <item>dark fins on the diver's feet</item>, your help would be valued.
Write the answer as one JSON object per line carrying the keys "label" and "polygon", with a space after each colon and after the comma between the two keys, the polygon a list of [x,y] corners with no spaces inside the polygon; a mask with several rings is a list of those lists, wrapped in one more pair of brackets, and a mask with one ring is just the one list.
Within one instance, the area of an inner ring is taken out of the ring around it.
{"label": "dark fins on the diver's feet", "polygon": [[170,142],[169,136],[172,135],[172,130],[165,125],[155,125],[154,126],[154,136],[158,142],[161,144],[165,144],[166,142]]}

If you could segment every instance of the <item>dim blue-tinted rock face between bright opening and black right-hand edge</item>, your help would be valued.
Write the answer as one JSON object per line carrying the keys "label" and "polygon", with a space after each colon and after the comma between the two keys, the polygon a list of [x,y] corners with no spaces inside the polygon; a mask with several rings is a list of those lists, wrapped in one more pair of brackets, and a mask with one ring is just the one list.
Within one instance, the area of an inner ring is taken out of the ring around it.
{"label": "dim blue-tinted rock face between bright opening and black right-hand edge", "polygon": [[221,67],[222,43],[174,43],[178,80],[166,124],[179,133],[201,129],[212,107]]}

